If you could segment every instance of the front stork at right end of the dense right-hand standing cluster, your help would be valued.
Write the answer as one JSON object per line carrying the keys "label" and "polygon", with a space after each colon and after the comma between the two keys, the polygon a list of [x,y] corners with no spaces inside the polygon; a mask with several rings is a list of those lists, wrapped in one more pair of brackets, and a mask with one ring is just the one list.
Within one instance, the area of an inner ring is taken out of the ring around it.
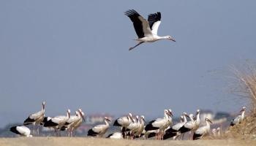
{"label": "front stork at right end of the dense right-hand standing cluster", "polygon": [[210,134],[210,131],[211,131],[210,123],[212,122],[208,118],[205,118],[205,120],[206,120],[206,126],[197,128],[197,130],[195,131],[195,134],[193,135],[193,140],[200,139],[206,134]]}

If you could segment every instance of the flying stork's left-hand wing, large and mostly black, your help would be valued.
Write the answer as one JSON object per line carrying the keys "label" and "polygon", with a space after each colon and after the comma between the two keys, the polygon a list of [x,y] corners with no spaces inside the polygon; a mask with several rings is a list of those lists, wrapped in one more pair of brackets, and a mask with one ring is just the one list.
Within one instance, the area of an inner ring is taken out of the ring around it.
{"label": "flying stork's left-hand wing, large and mostly black", "polygon": [[152,35],[148,21],[139,15],[138,12],[136,12],[134,9],[129,9],[127,12],[124,12],[124,14],[132,20],[139,39]]}

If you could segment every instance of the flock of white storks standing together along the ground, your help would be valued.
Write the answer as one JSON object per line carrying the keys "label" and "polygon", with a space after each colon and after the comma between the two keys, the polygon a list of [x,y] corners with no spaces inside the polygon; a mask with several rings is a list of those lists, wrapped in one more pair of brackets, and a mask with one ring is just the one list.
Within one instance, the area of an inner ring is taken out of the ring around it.
{"label": "flock of white storks standing together along the ground", "polygon": [[[230,126],[234,126],[241,123],[244,120],[244,112],[246,107],[242,107],[241,115],[238,115],[232,120]],[[205,118],[205,126],[200,127],[200,110],[197,110],[196,114],[187,115],[186,112],[181,114],[181,121],[173,124],[173,112],[172,110],[164,110],[164,117],[151,120],[146,124],[145,117],[143,115],[135,117],[129,112],[127,116],[117,118],[113,126],[120,126],[121,131],[109,134],[107,138],[110,139],[136,139],[143,138],[148,139],[155,137],[156,139],[184,139],[184,134],[189,132],[189,139],[200,139],[211,132],[211,120]],[[189,118],[189,120],[187,120]],[[23,126],[13,126],[10,131],[15,134],[20,134],[24,137],[32,137],[31,131],[26,125],[32,124],[37,126],[37,134],[39,134],[39,126],[52,128],[55,131],[56,136],[61,136],[61,131],[67,131],[67,137],[73,137],[76,129],[85,121],[84,112],[81,109],[75,111],[75,115],[70,115],[70,110],[67,110],[67,115],[58,115],[56,117],[45,116],[45,101],[42,102],[42,110],[29,115],[23,122]],[[105,124],[94,126],[89,129],[87,136],[89,137],[103,137],[108,128],[110,127],[111,118],[105,117]],[[219,128],[212,129],[212,134],[215,136],[219,134]]]}

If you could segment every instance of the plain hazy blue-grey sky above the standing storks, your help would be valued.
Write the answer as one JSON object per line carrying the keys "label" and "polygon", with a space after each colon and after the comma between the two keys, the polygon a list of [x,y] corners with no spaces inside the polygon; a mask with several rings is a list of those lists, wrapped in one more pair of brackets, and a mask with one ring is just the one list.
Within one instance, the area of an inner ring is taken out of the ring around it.
{"label": "plain hazy blue-grey sky above the standing storks", "polygon": [[[61,115],[236,111],[225,75],[256,54],[255,1],[0,1],[0,126],[41,108]],[[127,9],[162,12],[143,44]],[[240,103],[240,102],[239,102]]]}

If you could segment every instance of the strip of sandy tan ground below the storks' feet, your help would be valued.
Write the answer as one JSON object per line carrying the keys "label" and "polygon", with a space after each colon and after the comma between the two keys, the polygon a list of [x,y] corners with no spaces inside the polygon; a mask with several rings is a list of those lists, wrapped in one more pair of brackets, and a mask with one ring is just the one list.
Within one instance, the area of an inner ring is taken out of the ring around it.
{"label": "strip of sandy tan ground below the storks' feet", "polygon": [[62,145],[72,145],[72,146],[182,146],[182,145],[202,145],[202,146],[215,146],[215,145],[256,145],[256,141],[247,141],[247,140],[239,140],[239,139],[227,139],[227,140],[197,140],[197,141],[157,141],[157,140],[124,140],[124,139],[97,139],[97,138],[83,138],[83,137],[19,137],[19,138],[1,138],[0,139],[1,146],[26,146],[26,145],[37,145],[37,146],[62,146]]}

